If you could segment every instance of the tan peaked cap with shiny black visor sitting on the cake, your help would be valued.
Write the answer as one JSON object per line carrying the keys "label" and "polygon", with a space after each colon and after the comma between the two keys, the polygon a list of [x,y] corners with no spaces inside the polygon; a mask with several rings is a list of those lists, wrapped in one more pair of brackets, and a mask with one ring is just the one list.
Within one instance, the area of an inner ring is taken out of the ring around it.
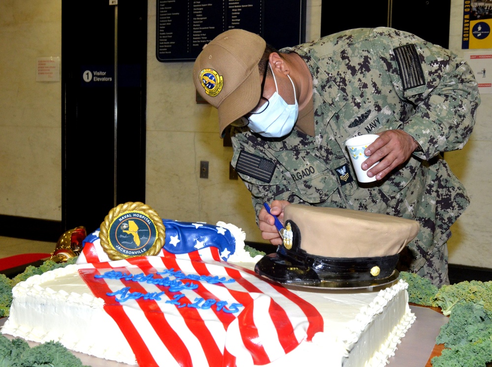
{"label": "tan peaked cap with shiny black visor sitting on the cake", "polygon": [[283,213],[283,245],[255,272],[276,282],[359,287],[396,280],[400,252],[418,222],[350,209],[291,204]]}

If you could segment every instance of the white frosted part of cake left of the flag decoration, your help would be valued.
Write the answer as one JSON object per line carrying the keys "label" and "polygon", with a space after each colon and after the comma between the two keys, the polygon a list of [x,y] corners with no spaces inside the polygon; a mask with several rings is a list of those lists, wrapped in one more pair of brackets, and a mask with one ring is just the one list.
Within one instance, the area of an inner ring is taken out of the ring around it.
{"label": "white frosted part of cake left of the flag decoration", "polygon": [[18,283],[12,294],[15,301],[2,334],[40,343],[60,341],[77,352],[136,363],[118,325],[104,311],[104,301],[92,295],[77,265],[34,275]]}

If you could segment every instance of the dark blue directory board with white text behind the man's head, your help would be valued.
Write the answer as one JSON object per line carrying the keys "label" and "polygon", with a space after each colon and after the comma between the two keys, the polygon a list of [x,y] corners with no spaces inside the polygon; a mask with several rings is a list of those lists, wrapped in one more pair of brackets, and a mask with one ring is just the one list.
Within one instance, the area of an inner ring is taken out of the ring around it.
{"label": "dark blue directory board with white text behind the man's head", "polygon": [[157,0],[157,60],[193,61],[231,28],[257,33],[277,49],[298,45],[306,37],[306,0]]}

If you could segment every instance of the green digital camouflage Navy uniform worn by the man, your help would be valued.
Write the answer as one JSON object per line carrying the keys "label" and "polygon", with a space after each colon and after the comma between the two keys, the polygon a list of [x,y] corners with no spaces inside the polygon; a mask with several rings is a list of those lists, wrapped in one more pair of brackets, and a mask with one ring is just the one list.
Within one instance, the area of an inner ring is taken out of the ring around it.
{"label": "green digital camouflage Navy uniform worn by the man", "polygon": [[[461,149],[473,130],[480,95],[470,67],[449,50],[391,28],[353,29],[280,51],[296,52],[311,71],[315,136],[294,129],[267,139],[233,128],[232,165],[247,168],[240,175],[256,213],[264,202],[282,199],[417,220],[421,229],[400,270],[435,285],[449,282],[449,228],[469,198],[440,153]],[[389,129],[406,131],[422,149],[363,186],[344,141]]]}

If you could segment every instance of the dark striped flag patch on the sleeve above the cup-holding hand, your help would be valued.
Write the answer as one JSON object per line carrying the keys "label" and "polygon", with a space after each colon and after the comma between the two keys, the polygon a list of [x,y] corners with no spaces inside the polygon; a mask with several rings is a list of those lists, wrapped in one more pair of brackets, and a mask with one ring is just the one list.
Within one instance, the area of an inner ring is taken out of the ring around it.
{"label": "dark striped flag patch on the sleeve above the cup-holding hand", "polygon": [[397,47],[394,52],[400,69],[403,90],[425,85],[424,72],[415,45],[403,45]]}

